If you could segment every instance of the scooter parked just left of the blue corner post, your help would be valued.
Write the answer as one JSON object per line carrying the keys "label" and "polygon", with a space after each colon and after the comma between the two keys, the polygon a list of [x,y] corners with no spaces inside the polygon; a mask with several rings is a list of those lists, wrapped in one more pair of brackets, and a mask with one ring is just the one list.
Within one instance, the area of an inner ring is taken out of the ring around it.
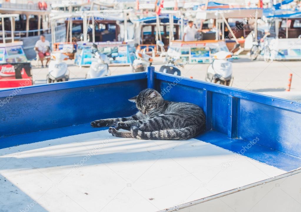
{"label": "scooter parked just left of the blue corner post", "polygon": [[132,63],[132,72],[146,71],[147,66],[151,66],[153,58],[147,55],[143,49],[136,51],[135,54],[136,59]]}

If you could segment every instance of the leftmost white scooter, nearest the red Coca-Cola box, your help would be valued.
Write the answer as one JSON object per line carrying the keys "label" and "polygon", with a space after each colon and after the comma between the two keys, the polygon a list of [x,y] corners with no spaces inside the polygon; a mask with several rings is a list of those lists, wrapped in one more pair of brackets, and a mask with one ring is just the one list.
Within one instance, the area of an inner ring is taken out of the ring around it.
{"label": "leftmost white scooter, nearest the red Coca-Cola box", "polygon": [[69,80],[69,70],[67,64],[63,62],[64,59],[69,58],[67,55],[61,53],[51,54],[54,58],[53,61],[49,62],[47,83],[64,82]]}

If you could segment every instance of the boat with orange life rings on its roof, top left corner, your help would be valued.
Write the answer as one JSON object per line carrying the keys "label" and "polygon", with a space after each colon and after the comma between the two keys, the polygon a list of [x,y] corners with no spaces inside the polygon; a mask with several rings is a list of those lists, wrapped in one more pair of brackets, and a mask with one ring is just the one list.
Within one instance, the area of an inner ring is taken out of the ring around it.
{"label": "boat with orange life rings on its roof, top left corner", "polygon": [[[12,0],[10,2],[3,1],[0,6],[1,14],[20,14],[14,21],[13,25],[10,24],[9,18],[5,18],[2,22],[5,23],[5,37],[11,40],[11,27],[14,28],[14,39],[23,42],[23,49],[28,59],[36,57],[36,52],[33,50],[36,42],[40,39],[40,35],[44,34],[46,40],[51,42],[50,30],[50,5],[46,2],[33,0],[30,2],[19,2]],[[56,23],[56,41],[64,42],[66,40],[66,27],[64,23],[61,25]],[[2,36],[1,36],[2,37]],[[0,38],[0,42],[3,39]]]}

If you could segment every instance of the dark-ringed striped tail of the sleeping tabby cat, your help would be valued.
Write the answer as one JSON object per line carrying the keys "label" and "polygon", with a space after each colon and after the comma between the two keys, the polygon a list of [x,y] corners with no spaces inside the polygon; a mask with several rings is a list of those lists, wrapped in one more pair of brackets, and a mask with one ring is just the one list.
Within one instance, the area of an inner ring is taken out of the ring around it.
{"label": "dark-ringed striped tail of the sleeping tabby cat", "polygon": [[143,132],[139,130],[136,126],[131,128],[132,136],[136,139],[144,139],[144,140],[167,140],[167,139],[175,139],[175,140],[186,140],[191,139],[196,136],[200,132],[202,132],[205,128],[205,123],[201,123],[198,125],[190,125],[181,129],[165,129],[158,130],[154,132]]}

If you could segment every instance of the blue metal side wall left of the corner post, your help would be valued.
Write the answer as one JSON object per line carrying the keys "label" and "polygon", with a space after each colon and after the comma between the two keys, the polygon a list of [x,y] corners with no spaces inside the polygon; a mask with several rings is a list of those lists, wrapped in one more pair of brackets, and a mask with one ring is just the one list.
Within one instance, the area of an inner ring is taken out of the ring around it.
{"label": "blue metal side wall left of the corner post", "polygon": [[[0,92],[1,137],[79,125],[135,113],[129,98],[147,87],[146,73]],[[16,93],[17,95],[12,95]],[[11,98],[10,98],[11,95]]]}

